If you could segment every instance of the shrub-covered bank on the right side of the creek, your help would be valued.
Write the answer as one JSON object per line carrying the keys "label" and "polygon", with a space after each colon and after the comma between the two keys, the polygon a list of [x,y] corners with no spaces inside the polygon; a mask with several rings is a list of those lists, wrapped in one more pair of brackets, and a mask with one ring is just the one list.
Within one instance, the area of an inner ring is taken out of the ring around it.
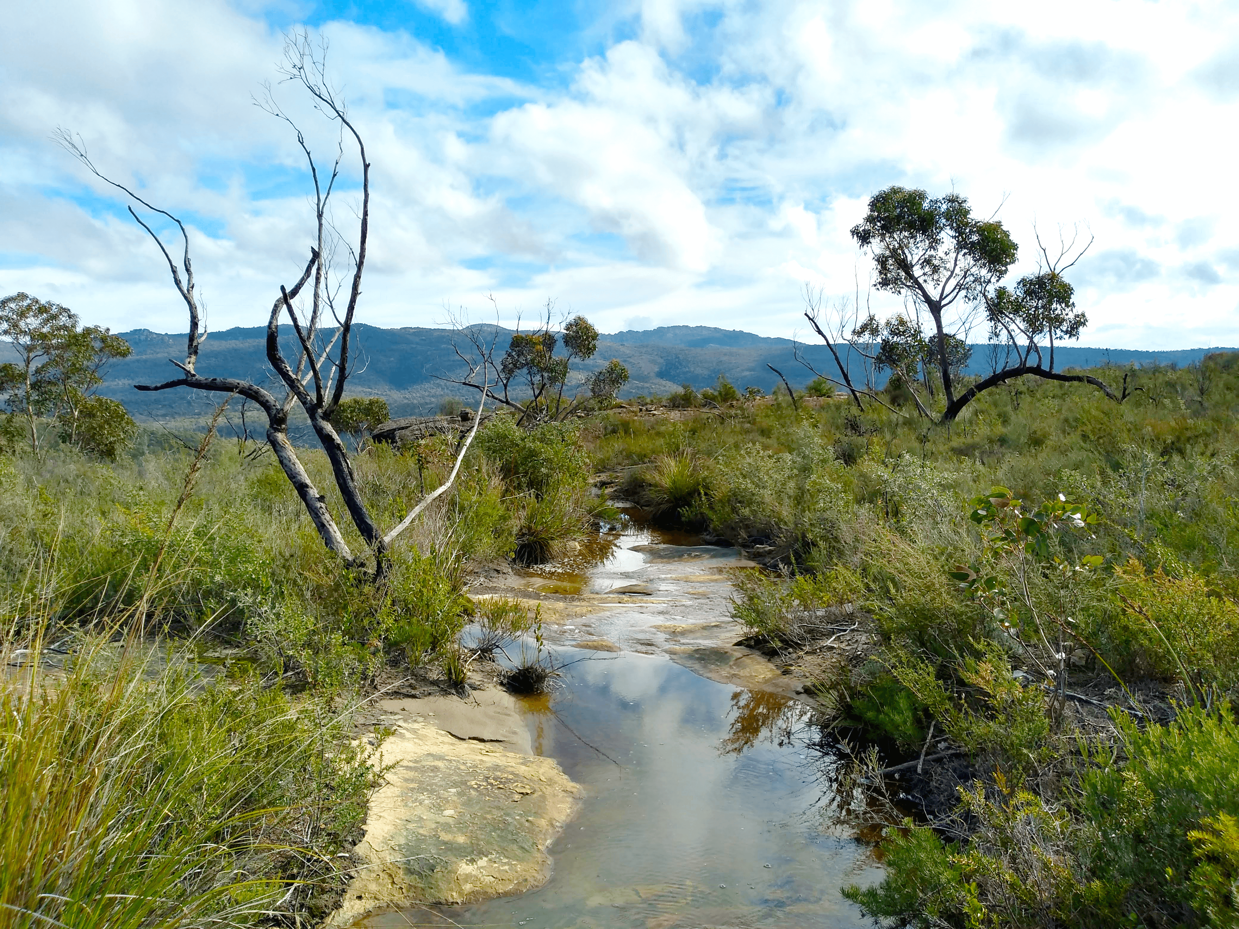
{"label": "shrub-covered bank on the right side of the creek", "polygon": [[929,427],[897,384],[720,384],[591,432],[626,497],[773,569],[735,614],[869,787],[887,877],[846,896],[881,920],[1239,924],[1239,355],[1127,388]]}

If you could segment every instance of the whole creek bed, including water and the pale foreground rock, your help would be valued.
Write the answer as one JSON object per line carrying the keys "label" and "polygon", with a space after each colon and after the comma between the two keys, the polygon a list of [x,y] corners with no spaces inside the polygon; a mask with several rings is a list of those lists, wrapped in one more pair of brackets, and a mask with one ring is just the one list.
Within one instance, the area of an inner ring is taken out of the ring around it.
{"label": "whole creek bed, including water and the pale foreground rock", "polygon": [[328,925],[867,925],[800,683],[733,645],[748,565],[696,541],[629,528],[471,591],[541,602],[561,686],[384,704],[395,768]]}

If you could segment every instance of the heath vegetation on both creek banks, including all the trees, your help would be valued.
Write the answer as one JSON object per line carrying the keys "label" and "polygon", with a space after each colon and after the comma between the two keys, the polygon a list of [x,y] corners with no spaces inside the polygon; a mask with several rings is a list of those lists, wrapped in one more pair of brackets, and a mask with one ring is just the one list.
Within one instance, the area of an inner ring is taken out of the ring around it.
{"label": "heath vegetation on both creek banks, including all the trees", "polygon": [[[1088,244],[1042,246],[1004,284],[1000,222],[891,187],[851,235],[906,311],[808,291],[836,368],[804,393],[771,368],[769,398],[720,375],[621,405],[628,370],[574,370],[598,333],[548,305],[503,354],[461,328],[468,373],[449,380],[478,415],[374,443],[387,405],[348,391],[370,164],[325,53],[292,35],[281,74],[338,133],[335,160],[260,100],[313,191],[306,261],[265,320],[278,388],[198,369],[186,225],[58,134],[123,196],[186,310],[183,359],[138,389],[219,405],[204,434],[139,430],[97,394],[123,339],[0,301],[6,924],[326,913],[380,774],[383,733],[354,739],[359,695],[393,674],[460,689],[515,643],[509,686],[546,687],[540,616],[472,603],[468,572],[559,556],[606,512],[591,476],[622,471],[655,519],[768,569],[737,583],[735,616],[815,678],[826,741],[886,827],[886,877],[845,891],[865,913],[1239,925],[1239,355],[1058,370],[1056,343],[1087,322],[1063,275]],[[356,224],[337,227],[346,168]],[[968,377],[976,322],[992,358]],[[263,442],[217,435],[234,401]]]}

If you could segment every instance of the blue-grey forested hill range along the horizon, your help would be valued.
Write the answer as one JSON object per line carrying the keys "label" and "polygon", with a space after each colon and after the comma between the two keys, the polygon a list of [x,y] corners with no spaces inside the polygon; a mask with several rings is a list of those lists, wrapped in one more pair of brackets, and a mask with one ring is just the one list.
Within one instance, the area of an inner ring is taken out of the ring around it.
{"label": "blue-grey forested hill range along the horizon", "polygon": [[[502,352],[512,333],[497,327],[478,327],[497,339]],[[349,379],[349,393],[378,394],[387,399],[395,416],[414,416],[434,411],[445,396],[467,399],[472,391],[436,379],[463,373],[463,363],[452,351],[460,333],[451,329],[356,327],[358,364]],[[186,336],[164,334],[150,329],[121,333],[134,348],[133,355],[108,370],[100,393],[120,400],[138,419],[175,421],[198,416],[214,400],[201,393],[172,389],[139,393],[134,384],[157,384],[176,377],[169,358],[183,358]],[[221,377],[242,377],[275,386],[266,365],[266,331],[261,327],[213,332],[202,343],[198,370]],[[295,341],[292,331],[281,327],[285,344]],[[622,396],[667,394],[681,384],[705,388],[725,373],[737,388],[758,386],[769,393],[778,378],[767,368],[773,364],[797,388],[813,375],[795,359],[797,343],[787,338],[755,336],[751,332],[720,329],[712,326],[663,326],[657,329],[603,334],[598,352],[585,370],[596,369],[611,358],[623,362],[632,375]],[[1104,364],[1176,364],[1198,360],[1209,352],[1237,351],[1191,348],[1168,352],[1142,352],[1119,348],[1059,347],[1054,367],[1088,368]],[[818,370],[834,375],[834,359],[820,342],[799,346],[799,353]],[[974,346],[969,373],[987,369],[989,346]],[[11,349],[0,343],[0,360],[9,360]],[[859,374],[859,365],[856,373]]]}

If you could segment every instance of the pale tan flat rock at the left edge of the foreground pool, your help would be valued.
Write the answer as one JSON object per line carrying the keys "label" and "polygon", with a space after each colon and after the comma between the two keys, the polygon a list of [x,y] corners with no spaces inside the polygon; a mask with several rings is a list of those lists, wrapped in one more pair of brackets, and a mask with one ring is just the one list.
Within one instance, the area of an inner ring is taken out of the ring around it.
{"label": "pale tan flat rock at the left edge of the foreground pool", "polygon": [[357,876],[325,929],[520,893],[549,877],[546,850],[581,790],[553,759],[508,751],[529,746],[509,695],[473,696],[384,701],[394,732],[379,752],[393,767],[370,800]]}

